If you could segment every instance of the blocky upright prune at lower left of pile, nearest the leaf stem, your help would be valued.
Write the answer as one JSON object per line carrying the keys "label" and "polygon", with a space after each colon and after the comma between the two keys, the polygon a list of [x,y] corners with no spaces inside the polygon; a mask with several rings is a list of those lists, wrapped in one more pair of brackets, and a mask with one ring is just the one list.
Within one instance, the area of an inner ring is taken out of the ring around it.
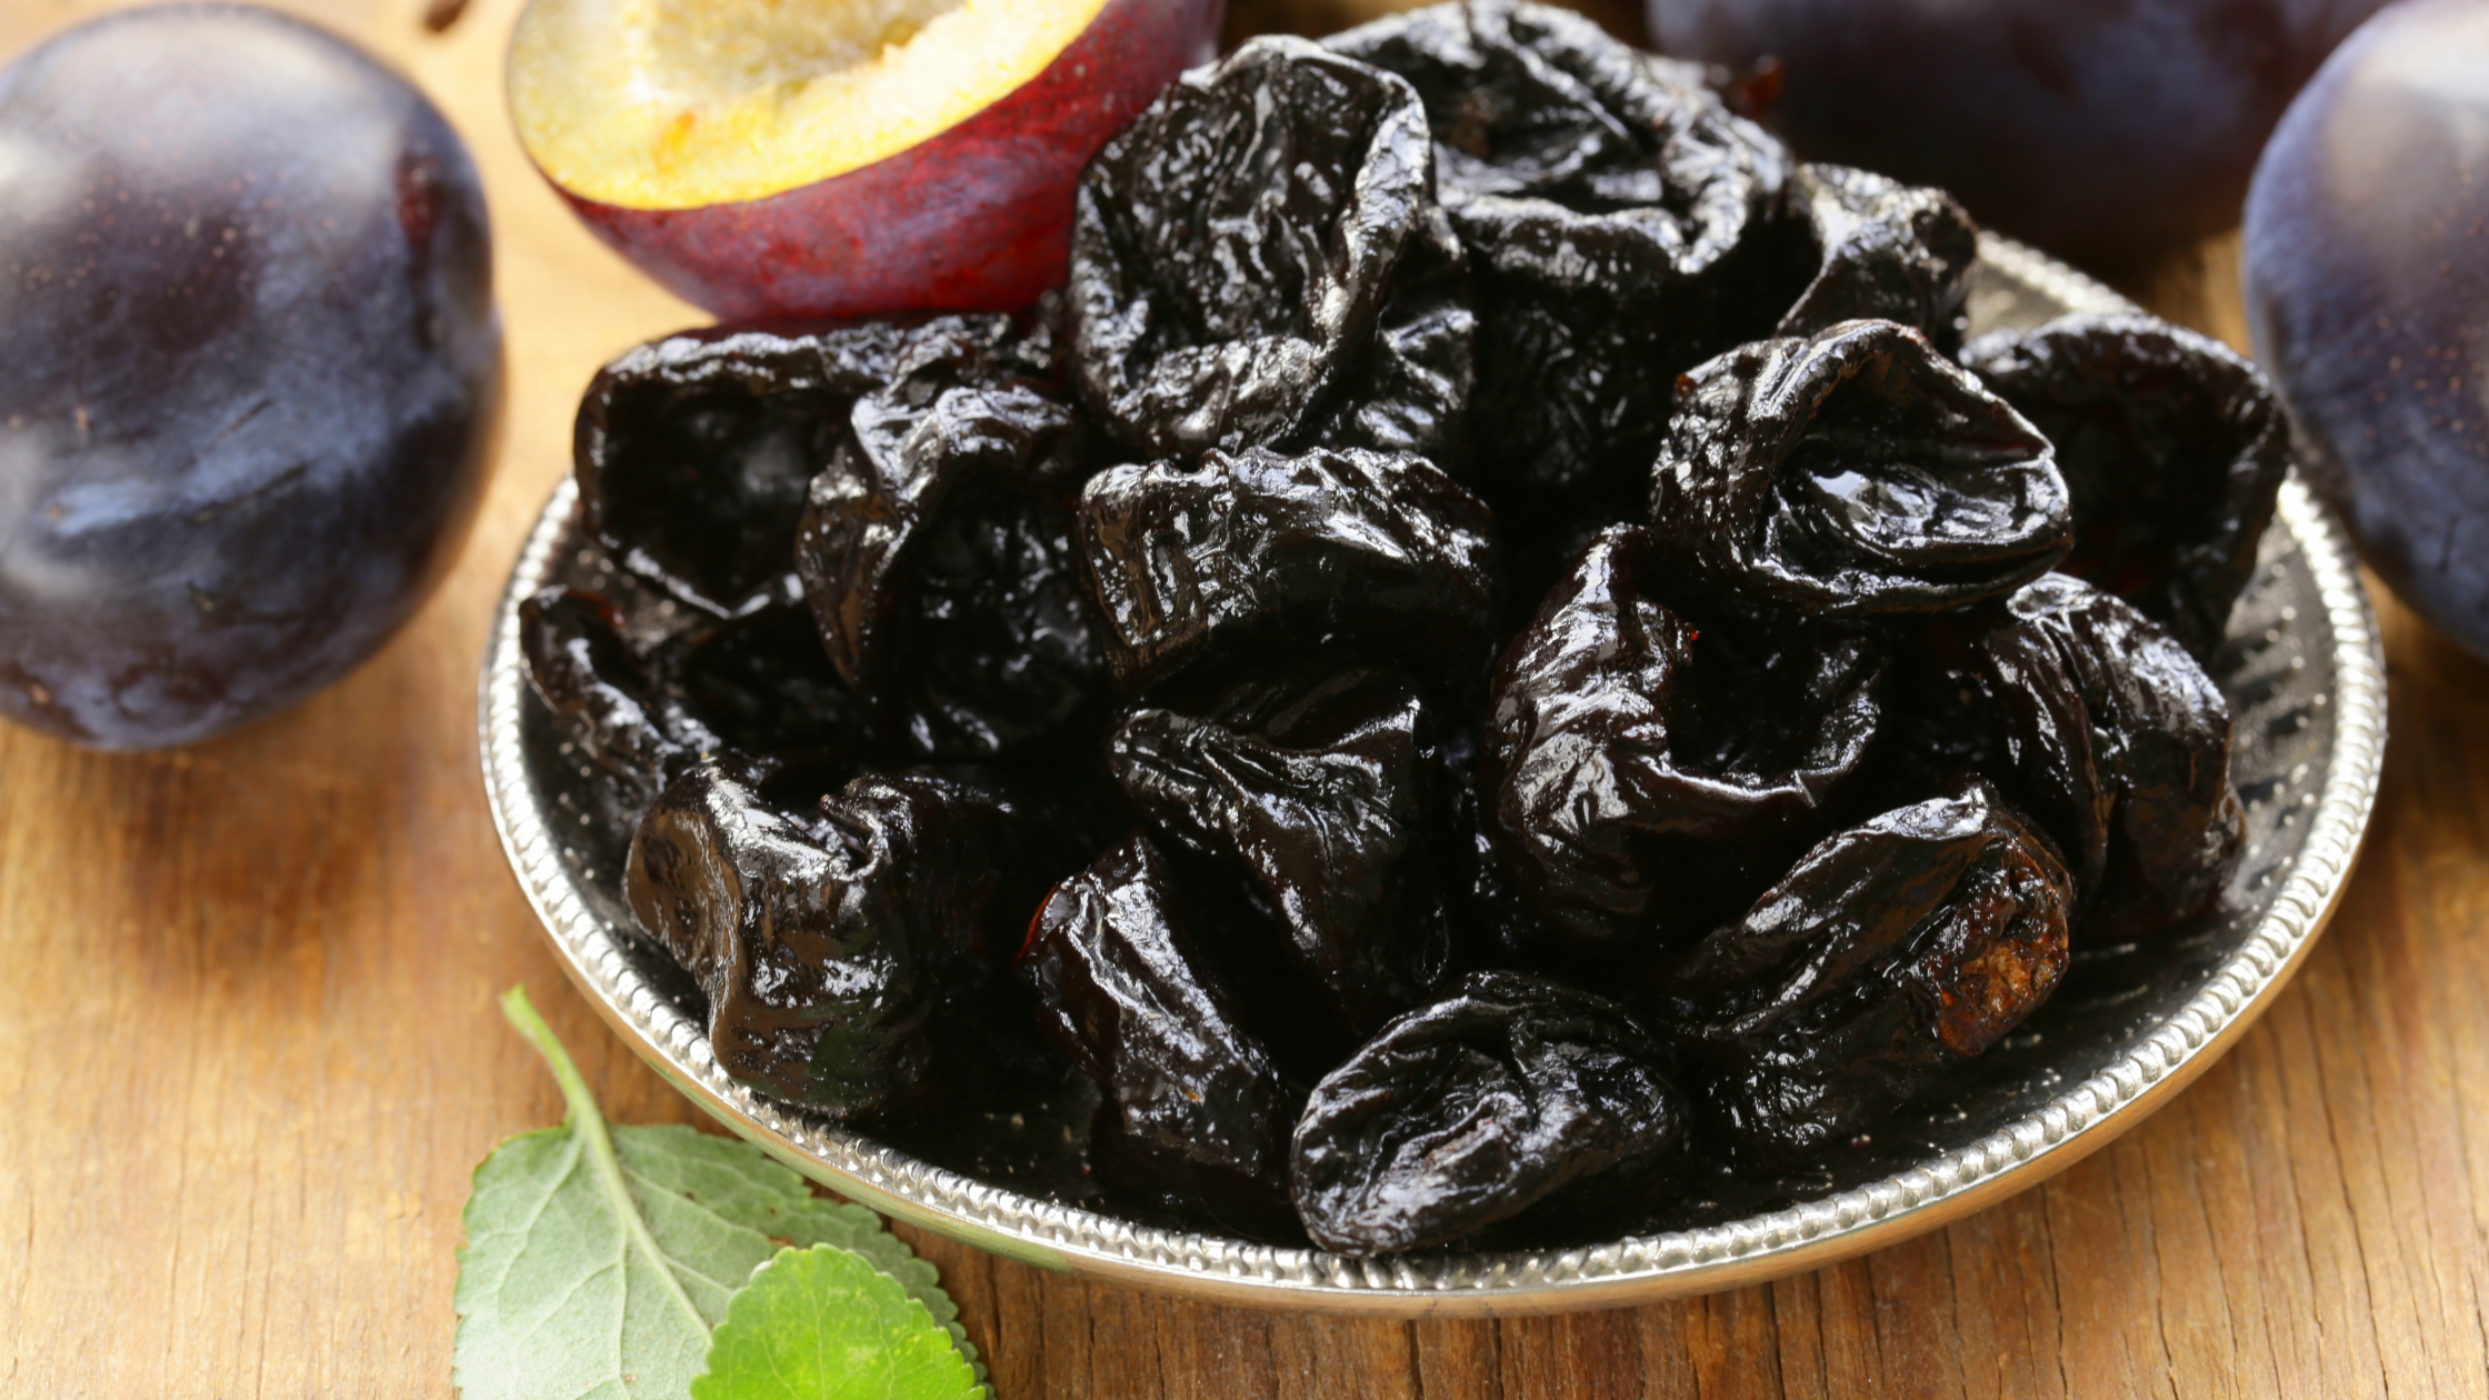
{"label": "blocky upright prune at lower left of pile, nearest the leaf stem", "polygon": [[973,1059],[981,991],[1045,889],[1045,820],[966,772],[864,775],[819,815],[707,757],[650,807],[622,894],[699,981],[739,1084],[834,1116],[918,1104]]}

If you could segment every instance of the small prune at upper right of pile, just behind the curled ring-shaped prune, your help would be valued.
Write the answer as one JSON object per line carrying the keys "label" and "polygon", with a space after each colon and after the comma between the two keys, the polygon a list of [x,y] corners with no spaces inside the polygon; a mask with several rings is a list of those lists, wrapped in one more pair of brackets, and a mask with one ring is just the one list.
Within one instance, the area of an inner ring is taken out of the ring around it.
{"label": "small prune at upper right of pile, just behind the curled ring-shaped prune", "polygon": [[1936,349],[1961,344],[1979,227],[1946,192],[1802,164],[1785,219],[1805,291],[1775,334],[1812,336],[1874,319],[1912,326]]}

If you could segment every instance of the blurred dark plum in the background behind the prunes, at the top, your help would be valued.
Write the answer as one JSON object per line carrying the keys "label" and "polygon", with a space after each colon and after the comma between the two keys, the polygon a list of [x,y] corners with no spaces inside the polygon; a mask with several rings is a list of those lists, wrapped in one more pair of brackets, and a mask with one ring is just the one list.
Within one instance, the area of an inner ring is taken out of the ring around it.
{"label": "blurred dark plum in the background behind the prunes, at the top", "polygon": [[1782,65],[1797,154],[1939,184],[2086,262],[2228,229],[2290,95],[2382,0],[1648,0],[1663,52]]}

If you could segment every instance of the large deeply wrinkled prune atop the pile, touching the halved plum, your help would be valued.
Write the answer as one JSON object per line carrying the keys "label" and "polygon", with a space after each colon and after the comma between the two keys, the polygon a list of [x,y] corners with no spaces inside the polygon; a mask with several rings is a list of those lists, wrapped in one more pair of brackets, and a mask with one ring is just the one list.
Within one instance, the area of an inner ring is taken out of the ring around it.
{"label": "large deeply wrinkled prune atop the pile, touching the halved plum", "polygon": [[1364,446],[1459,466],[1469,274],[1409,85],[1262,37],[1160,95],[1073,219],[1073,369],[1135,453]]}

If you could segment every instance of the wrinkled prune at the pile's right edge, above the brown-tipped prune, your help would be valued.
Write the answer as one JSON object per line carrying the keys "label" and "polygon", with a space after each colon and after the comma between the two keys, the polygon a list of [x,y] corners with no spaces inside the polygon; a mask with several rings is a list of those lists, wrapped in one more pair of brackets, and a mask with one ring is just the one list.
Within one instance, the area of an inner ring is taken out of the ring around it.
{"label": "wrinkled prune at the pile's right edge, above the brown-tipped prune", "polygon": [[2073,864],[2076,932],[2126,942],[2210,909],[2248,830],[2230,702],[2195,658],[2063,573],[2014,593],[1974,650],[2009,765],[1996,777]]}

